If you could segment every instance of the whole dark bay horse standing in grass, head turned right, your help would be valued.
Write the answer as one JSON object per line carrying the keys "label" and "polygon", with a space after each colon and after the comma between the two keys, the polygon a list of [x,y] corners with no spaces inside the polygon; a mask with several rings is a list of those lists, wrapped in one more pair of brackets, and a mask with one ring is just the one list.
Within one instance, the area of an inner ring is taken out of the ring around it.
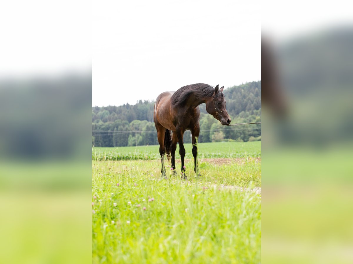
{"label": "whole dark bay horse standing in grass, head turned right", "polygon": [[[196,138],[200,133],[200,109],[199,105],[206,103],[206,111],[221,122],[229,125],[231,118],[226,110],[223,87],[215,88],[205,83],[195,83],[181,87],[177,92],[164,92],[158,95],[154,107],[154,122],[157,129],[159,153],[162,161],[162,176],[166,176],[164,167],[164,154],[168,160],[172,156],[173,173],[175,171],[175,150],[179,143],[181,158],[181,172],[185,177],[184,157],[185,148],[183,136],[185,130],[190,130],[192,135],[192,155],[194,157],[194,171],[197,172],[197,146]],[[171,134],[170,131],[173,133]]]}

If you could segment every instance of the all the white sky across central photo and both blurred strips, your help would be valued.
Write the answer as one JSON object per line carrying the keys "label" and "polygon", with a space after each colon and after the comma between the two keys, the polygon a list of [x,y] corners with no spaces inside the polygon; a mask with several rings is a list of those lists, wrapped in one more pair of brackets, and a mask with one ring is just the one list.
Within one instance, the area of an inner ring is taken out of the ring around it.
{"label": "all the white sky across central photo and both blurred strips", "polygon": [[283,40],[352,19],[342,0],[4,1],[0,78],[92,67],[93,106],[134,104],[197,82],[261,80],[261,29]]}

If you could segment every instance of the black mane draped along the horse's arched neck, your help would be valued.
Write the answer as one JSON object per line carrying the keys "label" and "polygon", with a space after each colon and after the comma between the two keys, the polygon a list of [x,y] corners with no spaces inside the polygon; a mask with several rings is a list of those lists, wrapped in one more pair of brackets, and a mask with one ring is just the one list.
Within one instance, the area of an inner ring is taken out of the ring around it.
{"label": "black mane draped along the horse's arched neck", "polygon": [[210,97],[215,89],[206,83],[195,83],[181,87],[172,95],[170,99],[172,105],[182,106],[186,102],[190,94],[193,94],[196,99]]}

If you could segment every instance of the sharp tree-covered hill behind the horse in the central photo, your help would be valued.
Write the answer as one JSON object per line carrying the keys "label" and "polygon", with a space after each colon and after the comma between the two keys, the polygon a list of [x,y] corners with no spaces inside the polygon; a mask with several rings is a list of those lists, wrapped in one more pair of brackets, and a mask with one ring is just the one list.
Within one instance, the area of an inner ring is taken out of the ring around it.
{"label": "sharp tree-covered hill behind the horse in the central photo", "polygon": [[[261,81],[227,88],[223,92],[232,124],[261,121]],[[92,107],[92,144],[95,146],[156,145],[153,123],[154,102],[140,100],[135,105]],[[261,139],[261,126],[224,127],[200,105],[199,142]],[[185,142],[191,142],[185,132]]]}

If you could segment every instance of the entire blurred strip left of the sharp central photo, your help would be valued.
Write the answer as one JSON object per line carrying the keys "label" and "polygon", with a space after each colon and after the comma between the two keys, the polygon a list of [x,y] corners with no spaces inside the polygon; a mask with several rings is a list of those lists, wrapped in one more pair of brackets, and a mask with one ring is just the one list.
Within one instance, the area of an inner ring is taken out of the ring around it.
{"label": "entire blurred strip left of the sharp central photo", "polygon": [[1,7],[1,263],[91,262],[90,8]]}

